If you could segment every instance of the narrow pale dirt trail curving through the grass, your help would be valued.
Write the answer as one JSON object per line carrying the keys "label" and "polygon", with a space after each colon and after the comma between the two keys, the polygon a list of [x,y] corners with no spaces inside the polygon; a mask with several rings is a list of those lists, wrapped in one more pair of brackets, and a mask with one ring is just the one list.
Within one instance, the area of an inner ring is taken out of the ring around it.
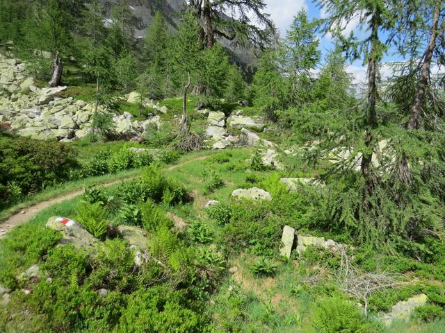
{"label": "narrow pale dirt trail curving through the grass", "polygon": [[[197,156],[191,160],[187,160],[182,163],[172,165],[171,167],[168,167],[165,170],[172,171],[179,167],[183,167],[184,165],[186,165],[188,163],[204,160],[207,157],[209,157],[209,155]],[[122,180],[129,180],[132,178],[137,178],[137,176],[133,176],[133,177],[129,177],[129,178],[121,178],[118,180],[111,180],[110,182],[102,182],[102,183],[99,182],[98,185],[102,185],[103,187],[110,187],[115,184],[118,184]],[[47,208],[51,205],[55,205],[56,203],[61,203],[64,200],[69,200],[69,199],[75,198],[76,196],[80,196],[81,194],[83,194],[83,189],[76,189],[76,191],[72,191],[70,193],[63,194],[62,196],[58,196],[56,198],[51,198],[49,200],[44,200],[44,201],[37,203],[35,205],[32,205],[30,207],[24,208],[24,210],[22,210],[21,212],[18,212],[18,213],[15,213],[15,214],[9,216],[8,219],[0,221],[0,238],[4,234],[6,234],[6,232],[8,232],[12,228],[16,227],[17,225],[21,225],[21,224],[29,221],[30,219],[32,219],[35,215],[37,215],[40,211],[44,210],[45,208]]]}

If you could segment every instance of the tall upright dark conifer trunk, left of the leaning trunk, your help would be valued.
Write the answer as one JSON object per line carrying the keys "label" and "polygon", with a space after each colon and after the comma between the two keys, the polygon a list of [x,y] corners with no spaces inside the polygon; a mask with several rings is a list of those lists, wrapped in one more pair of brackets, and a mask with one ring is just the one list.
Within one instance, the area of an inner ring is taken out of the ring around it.
{"label": "tall upright dark conifer trunk, left of the leaning trunk", "polygon": [[371,54],[368,60],[368,107],[366,112],[366,149],[362,156],[362,174],[366,182],[367,194],[374,189],[372,174],[372,157],[374,151],[373,130],[377,127],[377,113],[375,103],[377,102],[377,66],[378,66],[378,17],[371,18]]}

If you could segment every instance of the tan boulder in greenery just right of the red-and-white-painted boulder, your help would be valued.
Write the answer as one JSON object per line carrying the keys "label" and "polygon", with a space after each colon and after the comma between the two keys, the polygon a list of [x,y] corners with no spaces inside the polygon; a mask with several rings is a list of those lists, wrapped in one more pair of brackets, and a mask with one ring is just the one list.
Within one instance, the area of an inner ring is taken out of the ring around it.
{"label": "tan boulder in greenery just right of the red-and-white-painted boulder", "polygon": [[130,248],[134,251],[134,264],[140,266],[149,258],[147,237],[148,234],[144,230],[131,225],[119,225],[118,232],[120,237],[127,241]]}

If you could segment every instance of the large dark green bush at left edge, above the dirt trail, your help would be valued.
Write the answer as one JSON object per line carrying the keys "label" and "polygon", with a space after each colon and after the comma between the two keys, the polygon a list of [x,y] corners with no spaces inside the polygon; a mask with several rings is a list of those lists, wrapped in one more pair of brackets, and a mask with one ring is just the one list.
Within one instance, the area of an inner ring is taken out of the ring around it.
{"label": "large dark green bush at left edge, above the dirt trail", "polygon": [[0,209],[68,178],[76,156],[67,144],[0,135]]}

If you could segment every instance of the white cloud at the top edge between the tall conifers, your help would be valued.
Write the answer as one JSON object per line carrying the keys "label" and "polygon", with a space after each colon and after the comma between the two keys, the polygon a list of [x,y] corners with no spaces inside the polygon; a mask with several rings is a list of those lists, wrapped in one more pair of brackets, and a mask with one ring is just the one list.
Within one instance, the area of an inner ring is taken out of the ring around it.
{"label": "white cloud at the top edge between the tall conifers", "polygon": [[293,17],[302,8],[307,10],[305,0],[266,0],[267,12],[270,13],[273,22],[280,30],[281,35],[292,23]]}

